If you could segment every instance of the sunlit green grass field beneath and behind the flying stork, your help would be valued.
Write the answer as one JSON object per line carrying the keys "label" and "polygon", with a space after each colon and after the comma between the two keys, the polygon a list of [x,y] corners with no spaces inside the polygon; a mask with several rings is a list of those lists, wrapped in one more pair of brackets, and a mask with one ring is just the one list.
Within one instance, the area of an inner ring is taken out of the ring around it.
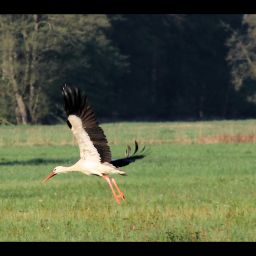
{"label": "sunlit green grass field beneath and behind the flying stork", "polygon": [[65,125],[0,127],[0,241],[256,241],[256,121],[103,124],[113,158],[137,139],[150,154],[103,179],[70,165]]}

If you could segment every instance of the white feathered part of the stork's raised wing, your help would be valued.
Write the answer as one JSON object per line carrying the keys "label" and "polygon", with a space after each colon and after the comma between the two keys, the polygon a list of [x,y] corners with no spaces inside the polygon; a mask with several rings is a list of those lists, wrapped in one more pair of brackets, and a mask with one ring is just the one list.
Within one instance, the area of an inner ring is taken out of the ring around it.
{"label": "white feathered part of the stork's raised wing", "polygon": [[88,161],[100,162],[100,155],[90,140],[88,133],[84,130],[82,120],[76,115],[69,115],[68,120],[72,125],[71,131],[79,145],[80,158]]}

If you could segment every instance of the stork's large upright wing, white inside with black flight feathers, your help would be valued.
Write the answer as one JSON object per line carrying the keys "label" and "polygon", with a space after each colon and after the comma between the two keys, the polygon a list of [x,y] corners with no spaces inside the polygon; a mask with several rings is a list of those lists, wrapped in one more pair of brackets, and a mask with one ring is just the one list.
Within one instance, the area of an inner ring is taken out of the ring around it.
{"label": "stork's large upright wing, white inside with black flight feathers", "polygon": [[110,162],[111,151],[87,97],[76,87],[62,87],[67,124],[80,149],[81,159]]}

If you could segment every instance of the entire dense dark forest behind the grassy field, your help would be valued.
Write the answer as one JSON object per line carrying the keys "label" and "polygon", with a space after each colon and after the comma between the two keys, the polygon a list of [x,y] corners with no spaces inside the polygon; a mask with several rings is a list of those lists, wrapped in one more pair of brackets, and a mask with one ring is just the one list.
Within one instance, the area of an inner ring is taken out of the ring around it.
{"label": "entire dense dark forest behind the grassy field", "polygon": [[62,85],[100,120],[256,116],[256,15],[0,15],[0,123],[63,121]]}

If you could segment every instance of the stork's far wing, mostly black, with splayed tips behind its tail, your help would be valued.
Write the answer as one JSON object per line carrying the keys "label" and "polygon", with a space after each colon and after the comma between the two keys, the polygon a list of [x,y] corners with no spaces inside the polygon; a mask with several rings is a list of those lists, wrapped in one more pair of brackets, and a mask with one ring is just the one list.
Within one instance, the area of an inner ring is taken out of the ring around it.
{"label": "stork's far wing, mostly black, with splayed tips behind its tail", "polygon": [[132,153],[132,155],[130,155],[131,147],[128,145],[127,149],[126,149],[126,157],[112,160],[110,163],[112,165],[114,165],[115,167],[122,167],[122,166],[126,166],[138,159],[144,158],[146,156],[145,155],[145,146],[140,151],[138,151],[138,149],[139,149],[139,146],[138,146],[137,141],[135,140],[135,148],[134,148],[134,152]]}

